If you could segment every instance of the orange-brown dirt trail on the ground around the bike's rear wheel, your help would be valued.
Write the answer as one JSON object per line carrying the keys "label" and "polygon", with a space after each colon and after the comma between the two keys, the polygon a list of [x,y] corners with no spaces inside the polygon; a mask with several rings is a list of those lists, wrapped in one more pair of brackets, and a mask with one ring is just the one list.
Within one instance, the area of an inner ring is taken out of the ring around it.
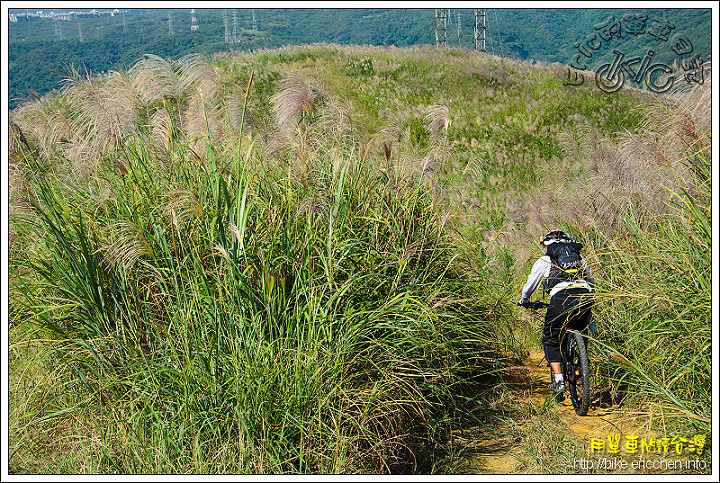
{"label": "orange-brown dirt trail on the ground around the bike's rear wheel", "polygon": [[[531,353],[526,365],[508,368],[507,372],[505,384],[514,395],[515,403],[539,410],[543,405],[551,402],[548,401],[550,371],[541,351]],[[564,401],[558,403],[560,418],[570,428],[574,439],[587,442],[589,445],[591,437],[624,433],[629,427],[635,426],[635,421],[623,420],[620,408],[610,404],[608,396],[599,388],[593,387],[590,410],[587,416],[582,417],[575,414],[569,398],[566,397]],[[529,421],[515,420],[515,422],[522,426]],[[502,434],[504,428],[495,429]],[[466,466],[462,468],[462,472],[490,474],[522,472],[519,457],[526,450],[509,433],[508,431],[508,436],[505,437],[483,439],[487,436],[484,436],[478,428],[459,432],[455,441],[469,449],[469,459],[465,462]],[[485,434],[489,435],[490,432]]]}

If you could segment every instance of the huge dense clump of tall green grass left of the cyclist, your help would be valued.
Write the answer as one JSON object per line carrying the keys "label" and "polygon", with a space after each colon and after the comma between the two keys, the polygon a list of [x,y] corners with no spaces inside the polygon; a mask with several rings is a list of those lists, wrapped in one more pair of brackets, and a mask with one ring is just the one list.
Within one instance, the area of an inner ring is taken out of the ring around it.
{"label": "huge dense clump of tall green grass left of the cyclist", "polygon": [[14,412],[14,465],[42,430],[77,438],[74,471],[437,465],[438,425],[493,369],[493,314],[426,185],[340,141],[310,183],[291,175],[306,147],[228,155],[210,127],[171,149],[119,136],[85,183],[61,159],[28,175],[13,323],[47,340],[57,397]]}

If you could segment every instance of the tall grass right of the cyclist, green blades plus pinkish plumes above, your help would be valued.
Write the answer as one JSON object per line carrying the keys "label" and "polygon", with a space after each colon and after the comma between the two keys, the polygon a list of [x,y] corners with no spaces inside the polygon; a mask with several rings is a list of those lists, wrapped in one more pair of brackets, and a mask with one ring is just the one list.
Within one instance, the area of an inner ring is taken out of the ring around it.
{"label": "tall grass right of the cyclist, green blades plus pinkish plumes above", "polygon": [[[612,360],[612,377],[662,415],[656,421],[700,432],[710,431],[711,411],[708,81],[658,100],[646,111],[646,132],[625,137],[625,156],[655,166],[636,175],[653,187],[647,202],[634,196],[614,205],[614,226],[574,227],[600,263],[598,344]],[[623,188],[636,189],[615,189]]]}

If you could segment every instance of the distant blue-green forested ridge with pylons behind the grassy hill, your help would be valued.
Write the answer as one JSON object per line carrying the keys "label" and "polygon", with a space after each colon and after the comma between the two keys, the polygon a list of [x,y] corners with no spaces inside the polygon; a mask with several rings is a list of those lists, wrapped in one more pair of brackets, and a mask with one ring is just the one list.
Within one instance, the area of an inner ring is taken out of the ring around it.
{"label": "distant blue-green forested ridge with pylons behind the grassy hill", "polygon": [[[435,44],[432,9],[196,9],[199,28],[195,31],[190,30],[189,9],[130,9],[96,16],[64,12],[53,19],[27,16],[30,12],[24,9],[9,11],[16,20],[8,28],[11,108],[28,98],[30,91],[42,95],[59,88],[71,64],[84,64],[98,72],[128,68],[145,53],[177,58],[192,52],[253,51],[321,42]],[[634,14],[646,17],[642,34],[628,33],[624,18]],[[488,9],[486,50],[503,57],[569,64],[583,43],[597,34],[595,27],[609,18],[621,23],[624,32],[591,52],[590,69],[609,58],[613,49],[640,55],[654,48],[655,61],[671,63],[670,39],[663,43],[647,34],[655,19],[672,25],[671,35],[690,39],[693,52],[704,61],[711,59],[709,8]],[[473,9],[449,9],[447,46],[474,49],[474,23]]]}

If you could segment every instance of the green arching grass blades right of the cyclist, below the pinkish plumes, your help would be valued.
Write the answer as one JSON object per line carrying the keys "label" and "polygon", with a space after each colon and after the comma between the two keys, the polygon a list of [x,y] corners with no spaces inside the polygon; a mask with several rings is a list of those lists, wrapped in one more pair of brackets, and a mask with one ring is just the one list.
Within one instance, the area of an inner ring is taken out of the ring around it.
{"label": "green arching grass blades right of the cyclist, below the pinkish plumes", "polygon": [[696,168],[707,176],[698,191],[675,193],[672,211],[649,223],[629,214],[630,236],[603,250],[606,294],[600,316],[604,342],[623,369],[617,374],[631,383],[631,391],[709,431],[709,159]]}

